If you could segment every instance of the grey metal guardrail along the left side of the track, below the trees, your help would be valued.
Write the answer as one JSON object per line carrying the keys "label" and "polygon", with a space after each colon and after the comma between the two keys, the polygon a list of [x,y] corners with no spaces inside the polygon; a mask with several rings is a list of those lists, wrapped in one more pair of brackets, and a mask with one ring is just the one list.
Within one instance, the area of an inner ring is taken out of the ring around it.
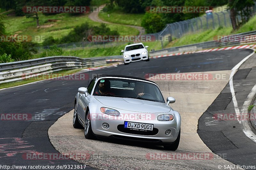
{"label": "grey metal guardrail along the left side of the track, below the trees", "polygon": [[21,81],[24,76],[33,77],[36,74],[49,74],[52,72],[95,67],[106,64],[105,58],[88,58],[69,56],[53,56],[32,60],[16,61],[0,64],[0,84],[12,81]]}

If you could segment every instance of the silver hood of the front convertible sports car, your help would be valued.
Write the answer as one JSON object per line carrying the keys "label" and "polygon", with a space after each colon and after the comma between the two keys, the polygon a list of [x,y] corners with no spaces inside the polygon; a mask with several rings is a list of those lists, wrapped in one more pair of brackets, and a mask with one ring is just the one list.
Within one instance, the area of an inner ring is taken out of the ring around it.
{"label": "silver hood of the front convertible sports car", "polygon": [[169,112],[171,108],[165,103],[152,102],[147,100],[108,97],[108,96],[94,96],[100,103],[113,108],[122,109],[133,112],[144,113],[165,113]]}

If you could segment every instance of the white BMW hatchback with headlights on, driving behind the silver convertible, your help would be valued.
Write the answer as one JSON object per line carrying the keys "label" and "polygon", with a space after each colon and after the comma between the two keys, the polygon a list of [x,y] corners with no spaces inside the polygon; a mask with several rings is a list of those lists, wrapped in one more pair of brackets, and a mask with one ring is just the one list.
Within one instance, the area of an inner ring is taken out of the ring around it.
{"label": "white BMW hatchback with headlights on, driving behind the silver convertible", "polygon": [[124,65],[130,62],[146,60],[149,61],[148,46],[144,46],[142,43],[130,44],[124,47],[121,52],[123,54]]}

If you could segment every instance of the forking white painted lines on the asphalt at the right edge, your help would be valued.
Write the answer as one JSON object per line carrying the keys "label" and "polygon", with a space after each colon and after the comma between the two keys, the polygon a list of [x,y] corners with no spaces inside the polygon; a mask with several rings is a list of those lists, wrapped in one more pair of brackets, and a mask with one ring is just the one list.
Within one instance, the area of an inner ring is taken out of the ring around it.
{"label": "forking white painted lines on the asphalt at the right edge", "polygon": [[[235,108],[235,112],[236,112],[236,116],[237,117],[241,117],[241,113],[240,110],[238,108],[238,104],[237,104],[237,100],[236,100],[236,95],[235,95],[235,90],[234,90],[234,86],[233,86],[233,76],[236,72],[236,70],[244,63],[244,61],[246,61],[248,58],[250,58],[255,52],[253,51],[253,53],[251,53],[250,55],[248,55],[247,57],[245,57],[242,61],[240,61],[235,67],[232,68],[232,72],[230,74],[229,77],[229,86],[230,86],[230,92],[232,94],[232,101],[234,103],[234,108]],[[242,113],[246,113],[247,107],[249,106],[249,104],[252,101],[253,96],[256,93],[256,85],[252,88],[250,94],[247,96],[247,100],[244,102],[244,105],[242,107]],[[244,134],[252,139],[252,141],[256,142],[256,135],[252,132],[251,128],[248,125],[247,120],[239,120],[239,118],[237,118],[237,121],[239,122],[239,124],[243,124],[243,132]]]}

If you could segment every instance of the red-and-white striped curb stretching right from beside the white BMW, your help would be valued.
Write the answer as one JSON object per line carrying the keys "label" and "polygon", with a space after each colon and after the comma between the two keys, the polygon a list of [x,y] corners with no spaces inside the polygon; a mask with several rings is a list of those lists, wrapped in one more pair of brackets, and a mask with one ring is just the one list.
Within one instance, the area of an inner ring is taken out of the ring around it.
{"label": "red-and-white striped curb stretching right from beside the white BMW", "polygon": [[154,57],[150,57],[150,58],[156,59],[156,58],[167,57],[167,56],[192,54],[192,53],[206,53],[206,52],[223,51],[223,50],[235,50],[235,49],[244,49],[244,48],[256,48],[256,45],[252,44],[252,45],[244,45],[244,46],[229,46],[229,47],[223,47],[223,48],[211,48],[211,49],[199,50],[199,51],[189,51],[189,52],[183,52],[183,53],[173,53],[173,54],[166,54],[166,55],[158,55],[158,56],[154,56]]}

